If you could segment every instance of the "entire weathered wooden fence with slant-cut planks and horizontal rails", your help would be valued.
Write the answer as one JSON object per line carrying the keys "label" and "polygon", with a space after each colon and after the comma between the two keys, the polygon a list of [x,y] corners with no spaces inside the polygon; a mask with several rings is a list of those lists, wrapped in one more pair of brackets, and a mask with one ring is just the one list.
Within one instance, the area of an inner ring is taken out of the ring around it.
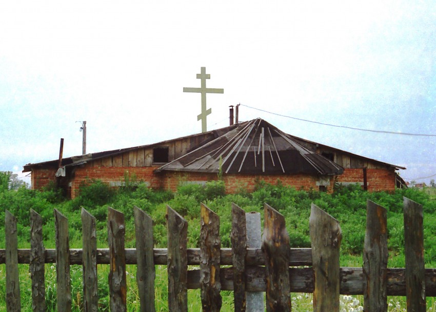
{"label": "entire weathered wooden fence with slant-cut planks and horizontal rails", "polygon": [[[137,265],[141,311],[154,311],[155,265],[168,269],[168,307],[187,311],[187,289],[200,288],[203,310],[219,311],[220,290],[233,290],[234,310],[245,311],[246,291],[265,291],[267,311],[290,311],[290,293],[313,293],[314,311],[339,311],[340,294],[364,295],[366,311],[386,311],[387,296],[406,296],[408,311],[425,311],[436,296],[436,269],[424,268],[422,206],[404,199],[406,268],[387,268],[386,209],[368,201],[363,267],[340,267],[339,222],[312,204],[312,248],[290,248],[284,217],[264,207],[262,248],[247,248],[245,211],[232,206],[232,248],[221,248],[220,219],[201,206],[201,246],[187,248],[188,223],[167,207],[168,248],[153,248],[152,220],[134,208],[136,248],[124,247],[124,215],[108,208],[108,249],[96,248],[95,218],[82,209],[83,249],[70,249],[68,220],[55,209],[56,249],[45,249],[42,218],[31,210],[31,248],[17,249],[16,219],[6,211],[8,311],[20,308],[18,263],[28,263],[34,311],[44,311],[44,264],[56,263],[57,308],[71,310],[70,266],[83,265],[85,311],[97,311],[97,264],[109,264],[111,311],[125,311],[126,264]],[[190,269],[189,265],[200,266]],[[225,267],[222,267],[225,266]]]}

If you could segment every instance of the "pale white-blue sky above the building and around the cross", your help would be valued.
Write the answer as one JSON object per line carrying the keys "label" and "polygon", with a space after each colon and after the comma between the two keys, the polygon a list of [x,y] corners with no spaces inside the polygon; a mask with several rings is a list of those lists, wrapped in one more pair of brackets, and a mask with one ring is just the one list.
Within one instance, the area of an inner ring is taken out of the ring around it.
{"label": "pale white-blue sky above the building and around the cross", "polygon": [[[436,179],[436,2],[16,1],[0,4],[0,171],[262,118]],[[261,109],[261,110],[259,110]],[[262,111],[263,110],[263,111]],[[290,118],[291,117],[291,118]],[[293,118],[375,131],[332,127]],[[79,121],[79,122],[78,122]],[[78,123],[77,123],[78,122]],[[26,177],[29,181],[29,177]]]}

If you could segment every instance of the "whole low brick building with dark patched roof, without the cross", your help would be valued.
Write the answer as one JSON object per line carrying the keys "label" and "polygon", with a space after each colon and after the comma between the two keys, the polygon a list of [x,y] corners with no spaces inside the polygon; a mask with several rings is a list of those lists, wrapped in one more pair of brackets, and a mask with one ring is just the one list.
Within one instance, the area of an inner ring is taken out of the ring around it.
{"label": "whole low brick building with dark patched roof, without the cross", "polygon": [[27,164],[31,186],[50,182],[71,198],[86,179],[121,186],[125,174],[152,188],[175,190],[180,182],[205,183],[218,175],[226,191],[252,191],[263,180],[305,190],[331,190],[334,183],[359,183],[370,191],[393,190],[404,181],[395,166],[282,132],[262,119],[132,148]]}

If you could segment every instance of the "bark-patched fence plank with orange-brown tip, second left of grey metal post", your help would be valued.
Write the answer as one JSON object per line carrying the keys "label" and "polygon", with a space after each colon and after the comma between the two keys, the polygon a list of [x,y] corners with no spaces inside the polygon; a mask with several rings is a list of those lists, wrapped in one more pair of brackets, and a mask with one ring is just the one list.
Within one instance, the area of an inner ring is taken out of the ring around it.
{"label": "bark-patched fence plank with orange-brown tip, second left of grey metal post", "polygon": [[200,285],[203,311],[219,311],[223,304],[220,283],[220,217],[203,203],[200,208]]}

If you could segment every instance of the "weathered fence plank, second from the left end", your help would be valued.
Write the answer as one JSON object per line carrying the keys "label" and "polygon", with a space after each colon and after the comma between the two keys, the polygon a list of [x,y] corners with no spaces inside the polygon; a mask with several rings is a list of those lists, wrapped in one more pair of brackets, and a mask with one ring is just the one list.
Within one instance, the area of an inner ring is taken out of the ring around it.
{"label": "weathered fence plank, second from the left end", "polygon": [[29,272],[32,279],[32,311],[46,310],[44,277],[43,218],[30,209],[30,257]]}

